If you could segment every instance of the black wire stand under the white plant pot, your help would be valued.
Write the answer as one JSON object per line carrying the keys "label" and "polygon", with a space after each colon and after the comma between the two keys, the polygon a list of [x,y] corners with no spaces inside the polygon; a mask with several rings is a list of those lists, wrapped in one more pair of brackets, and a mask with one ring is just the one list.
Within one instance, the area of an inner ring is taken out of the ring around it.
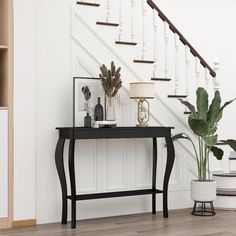
{"label": "black wire stand under the white plant pot", "polygon": [[[208,205],[208,207],[207,207]],[[214,216],[215,209],[213,206],[213,202],[199,202],[194,201],[194,207],[192,211],[192,215],[194,216]]]}

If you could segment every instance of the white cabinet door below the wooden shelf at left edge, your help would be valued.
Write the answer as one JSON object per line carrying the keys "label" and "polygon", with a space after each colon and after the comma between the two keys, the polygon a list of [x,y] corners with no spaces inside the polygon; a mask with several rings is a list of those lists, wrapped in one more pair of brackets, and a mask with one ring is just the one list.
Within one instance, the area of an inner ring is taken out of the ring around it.
{"label": "white cabinet door below the wooden shelf at left edge", "polygon": [[8,216],[8,112],[0,110],[0,218]]}

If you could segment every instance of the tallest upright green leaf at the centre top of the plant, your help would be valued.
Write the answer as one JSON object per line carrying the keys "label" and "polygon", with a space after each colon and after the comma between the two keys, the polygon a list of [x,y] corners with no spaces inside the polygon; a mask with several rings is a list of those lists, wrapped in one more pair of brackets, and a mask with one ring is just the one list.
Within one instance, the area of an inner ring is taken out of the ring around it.
{"label": "tallest upright green leaf at the centre top of the plant", "polygon": [[208,94],[204,88],[197,89],[197,111],[200,119],[207,119],[208,112]]}

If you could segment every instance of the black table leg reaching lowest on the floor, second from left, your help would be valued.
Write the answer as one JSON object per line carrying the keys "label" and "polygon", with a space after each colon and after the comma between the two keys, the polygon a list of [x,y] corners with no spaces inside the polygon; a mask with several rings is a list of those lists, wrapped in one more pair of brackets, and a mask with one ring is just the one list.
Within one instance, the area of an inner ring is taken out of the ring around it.
{"label": "black table leg reaching lowest on the floor, second from left", "polygon": [[76,228],[76,182],[75,182],[75,140],[70,140],[69,173],[71,186],[71,228]]}

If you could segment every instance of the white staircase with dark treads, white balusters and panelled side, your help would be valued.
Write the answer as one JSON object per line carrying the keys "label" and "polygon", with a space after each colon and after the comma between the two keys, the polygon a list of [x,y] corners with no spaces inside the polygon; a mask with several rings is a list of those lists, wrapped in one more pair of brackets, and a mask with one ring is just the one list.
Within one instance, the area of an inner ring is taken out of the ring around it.
{"label": "white staircase with dark treads, white balusters and panelled side", "polygon": [[[98,77],[101,64],[115,61],[122,68],[122,104],[131,102],[130,82],[155,81],[156,98],[151,103],[150,123],[174,125],[176,133],[188,130],[185,115],[189,113],[176,98],[193,102],[197,87],[206,88],[210,96],[219,89],[215,72],[219,59],[212,68],[152,0],[77,1],[71,11],[71,39],[73,76],[87,73],[86,76]],[[127,105],[123,113],[124,116],[134,111]],[[190,179],[196,175],[195,160],[185,158],[193,157],[189,150],[188,144],[177,146],[173,191],[189,190]],[[187,164],[181,162],[182,158]],[[236,174],[233,175],[214,175],[221,183],[219,194],[228,188],[225,179],[236,180]],[[233,193],[236,190],[230,184]],[[224,197],[218,196],[217,206],[227,205]]]}

